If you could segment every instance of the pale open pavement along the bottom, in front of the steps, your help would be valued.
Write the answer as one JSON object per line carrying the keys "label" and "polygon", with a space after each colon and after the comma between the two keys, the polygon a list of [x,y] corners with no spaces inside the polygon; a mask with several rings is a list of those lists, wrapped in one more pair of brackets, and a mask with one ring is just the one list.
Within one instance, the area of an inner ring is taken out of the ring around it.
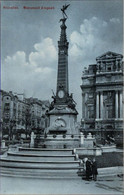
{"label": "pale open pavement along the bottom, in front of the steps", "polygon": [[98,181],[79,179],[23,179],[1,177],[0,194],[123,194],[122,177],[104,177]]}

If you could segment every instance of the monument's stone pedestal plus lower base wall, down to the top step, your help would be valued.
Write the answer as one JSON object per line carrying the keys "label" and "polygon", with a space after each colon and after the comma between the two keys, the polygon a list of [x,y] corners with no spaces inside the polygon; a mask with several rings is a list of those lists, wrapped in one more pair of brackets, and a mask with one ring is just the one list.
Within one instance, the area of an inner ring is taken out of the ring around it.
{"label": "monument's stone pedestal plus lower base wall, down to the top step", "polygon": [[49,111],[49,127],[45,130],[46,148],[74,148],[80,145],[77,111],[68,105],[54,105]]}

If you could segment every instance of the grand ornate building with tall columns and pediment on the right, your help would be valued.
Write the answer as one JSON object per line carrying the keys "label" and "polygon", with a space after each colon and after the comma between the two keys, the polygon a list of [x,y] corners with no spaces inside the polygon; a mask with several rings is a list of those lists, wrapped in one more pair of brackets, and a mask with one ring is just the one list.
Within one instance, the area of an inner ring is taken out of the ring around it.
{"label": "grand ornate building with tall columns and pediment on the right", "polygon": [[82,75],[82,129],[99,138],[122,138],[123,56],[106,52]]}

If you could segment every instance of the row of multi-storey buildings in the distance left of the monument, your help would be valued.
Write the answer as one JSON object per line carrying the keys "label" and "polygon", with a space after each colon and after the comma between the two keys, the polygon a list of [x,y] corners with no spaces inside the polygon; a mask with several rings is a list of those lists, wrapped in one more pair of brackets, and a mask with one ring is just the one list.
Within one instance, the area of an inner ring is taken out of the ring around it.
{"label": "row of multi-storey buildings in the distance left of the monument", "polygon": [[48,100],[25,98],[23,94],[13,94],[12,91],[0,91],[1,129],[2,134],[13,135],[29,134],[31,131],[42,131],[47,126],[46,111],[49,110]]}

